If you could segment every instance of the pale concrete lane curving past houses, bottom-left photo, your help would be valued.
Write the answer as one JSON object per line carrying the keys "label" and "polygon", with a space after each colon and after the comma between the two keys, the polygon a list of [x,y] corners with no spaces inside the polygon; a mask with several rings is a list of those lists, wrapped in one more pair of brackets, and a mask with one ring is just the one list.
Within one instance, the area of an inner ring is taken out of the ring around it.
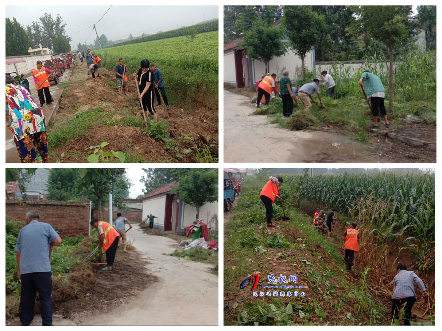
{"label": "pale concrete lane curving past houses, bottom-left photo", "polygon": [[[218,276],[208,272],[210,264],[163,255],[172,253],[177,242],[149,236],[137,225],[127,233],[127,239],[148,260],[146,267],[159,282],[126,304],[108,307],[105,313],[73,321],[54,316],[54,325],[218,325]],[[41,317],[35,316],[32,324],[41,325]]]}

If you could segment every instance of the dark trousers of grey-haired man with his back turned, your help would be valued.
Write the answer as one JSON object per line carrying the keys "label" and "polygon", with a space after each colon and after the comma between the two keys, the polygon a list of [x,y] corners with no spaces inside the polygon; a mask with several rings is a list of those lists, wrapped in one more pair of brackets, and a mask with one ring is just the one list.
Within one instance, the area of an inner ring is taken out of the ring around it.
{"label": "dark trousers of grey-haired man with his back turned", "polygon": [[52,325],[52,272],[31,272],[20,276],[22,292],[20,294],[20,321],[29,325],[34,319],[35,292],[40,295],[42,325]]}

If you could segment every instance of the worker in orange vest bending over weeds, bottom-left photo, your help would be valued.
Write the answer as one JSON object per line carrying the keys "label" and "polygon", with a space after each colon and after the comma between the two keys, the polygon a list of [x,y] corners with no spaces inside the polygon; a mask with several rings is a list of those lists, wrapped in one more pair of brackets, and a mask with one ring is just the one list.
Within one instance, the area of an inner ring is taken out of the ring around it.
{"label": "worker in orange vest bending over weeds, bottom-left photo", "polygon": [[106,267],[102,271],[112,271],[114,265],[115,254],[117,253],[118,240],[121,235],[108,222],[98,221],[95,218],[91,220],[91,226],[98,229],[99,248],[103,248],[106,253]]}

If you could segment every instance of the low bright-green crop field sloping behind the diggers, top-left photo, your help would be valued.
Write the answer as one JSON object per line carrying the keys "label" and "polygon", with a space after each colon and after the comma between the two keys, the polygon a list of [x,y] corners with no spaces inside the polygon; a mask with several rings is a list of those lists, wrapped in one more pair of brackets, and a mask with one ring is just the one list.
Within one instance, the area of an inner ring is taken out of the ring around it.
{"label": "low bright-green crop field sloping behind the diggers, top-left photo", "polygon": [[[100,54],[100,50],[92,53]],[[102,66],[113,70],[122,57],[129,74],[148,59],[161,69],[166,93],[172,105],[206,105],[218,103],[218,31],[145,41],[103,49]]]}

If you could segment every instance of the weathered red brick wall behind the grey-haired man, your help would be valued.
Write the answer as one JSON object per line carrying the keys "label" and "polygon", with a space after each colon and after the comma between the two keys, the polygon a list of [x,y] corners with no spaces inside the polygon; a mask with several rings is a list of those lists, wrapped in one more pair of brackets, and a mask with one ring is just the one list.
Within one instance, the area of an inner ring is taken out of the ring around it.
{"label": "weathered red brick wall behind the grey-haired man", "polygon": [[89,203],[67,203],[52,200],[6,200],[6,215],[17,221],[26,221],[27,211],[34,210],[40,221],[49,223],[61,237],[87,236],[89,230]]}

